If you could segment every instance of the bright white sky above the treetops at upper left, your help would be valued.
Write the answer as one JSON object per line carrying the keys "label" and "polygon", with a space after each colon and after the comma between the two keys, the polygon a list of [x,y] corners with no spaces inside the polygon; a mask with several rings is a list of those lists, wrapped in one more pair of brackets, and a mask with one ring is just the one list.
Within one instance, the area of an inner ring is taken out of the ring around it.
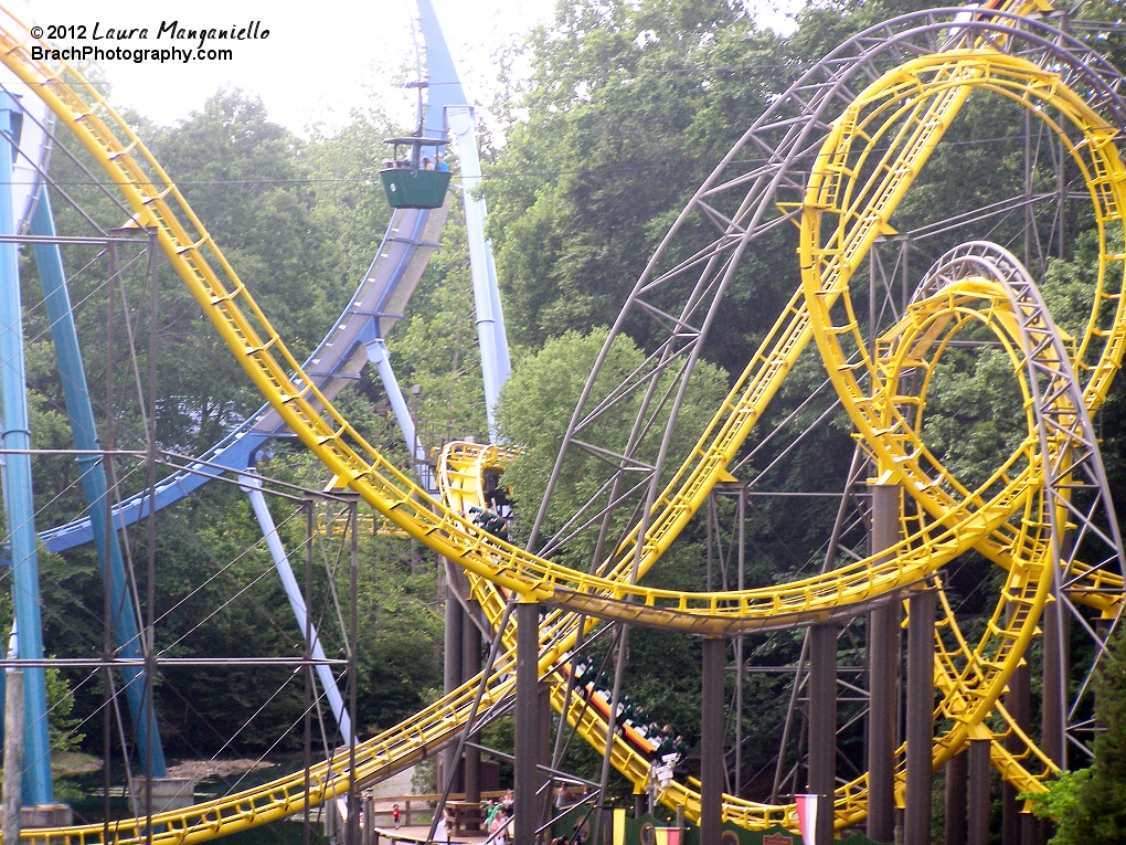
{"label": "bright white sky above the treetops at upper left", "polygon": [[[19,0],[17,0],[18,2]],[[409,0],[322,0],[280,3],[268,0],[194,0],[186,3],[109,3],[106,0],[29,0],[35,23],[86,26],[99,32],[148,27],[146,39],[100,41],[98,46],[166,47],[157,41],[162,21],[179,20],[186,28],[230,28],[261,21],[269,37],[259,41],[215,42],[230,46],[233,61],[199,61],[137,65],[99,62],[113,87],[110,103],[135,108],[145,117],[171,124],[203,106],[221,86],[233,84],[261,96],[270,119],[305,134],[314,123],[328,127],[348,122],[349,112],[370,101],[373,91],[393,106],[403,104],[402,119],[413,117],[413,95],[396,91],[393,75],[413,66]],[[797,0],[780,0],[783,6]],[[554,0],[432,0],[450,52],[458,62],[471,97],[495,84],[493,54],[513,36],[548,23]],[[749,2],[749,0],[744,0]],[[751,2],[754,8],[776,7]],[[769,14],[769,12],[766,12]],[[50,34],[50,33],[48,33]],[[95,44],[55,39],[61,46]],[[177,43],[186,44],[186,43]],[[411,74],[413,78],[413,73]],[[406,104],[411,104],[408,108]]]}

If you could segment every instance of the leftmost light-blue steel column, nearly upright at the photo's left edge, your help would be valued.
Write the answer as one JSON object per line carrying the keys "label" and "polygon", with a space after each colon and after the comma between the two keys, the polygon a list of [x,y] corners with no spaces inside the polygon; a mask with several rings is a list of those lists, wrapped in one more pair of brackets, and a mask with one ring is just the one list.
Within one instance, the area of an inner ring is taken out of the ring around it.
{"label": "leftmost light-blue steel column, nearly upright at the photo's left edge", "polygon": [[[0,91],[0,185],[12,184],[14,116],[19,106]],[[0,196],[0,234],[16,234],[9,190]],[[19,301],[19,257],[15,243],[0,244],[0,442],[3,501],[11,544],[12,602],[19,630],[19,658],[43,659],[39,614],[39,567],[36,554],[35,502],[32,496],[32,432],[27,412],[24,366],[23,309]],[[24,669],[24,803],[54,802],[51,782],[51,739],[47,728],[47,683],[43,666]]]}

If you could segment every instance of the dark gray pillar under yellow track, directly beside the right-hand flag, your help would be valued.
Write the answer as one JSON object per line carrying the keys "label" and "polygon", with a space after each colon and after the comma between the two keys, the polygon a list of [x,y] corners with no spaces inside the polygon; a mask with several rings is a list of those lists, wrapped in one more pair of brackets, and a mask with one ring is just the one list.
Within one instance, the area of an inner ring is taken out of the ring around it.
{"label": "dark gray pillar under yellow track, directly beside the right-hand flag", "polygon": [[833,838],[837,785],[837,625],[810,628],[808,791],[817,797],[817,842]]}

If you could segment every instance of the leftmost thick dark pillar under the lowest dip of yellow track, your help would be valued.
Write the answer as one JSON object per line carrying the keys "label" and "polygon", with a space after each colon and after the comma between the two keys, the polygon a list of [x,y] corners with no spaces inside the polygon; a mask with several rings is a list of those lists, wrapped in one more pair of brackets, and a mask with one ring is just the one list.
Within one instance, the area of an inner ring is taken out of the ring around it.
{"label": "leftmost thick dark pillar under the lowest dip of yellow track", "polygon": [[516,607],[516,730],[512,790],[516,842],[536,840],[536,756],[539,749],[539,605]]}

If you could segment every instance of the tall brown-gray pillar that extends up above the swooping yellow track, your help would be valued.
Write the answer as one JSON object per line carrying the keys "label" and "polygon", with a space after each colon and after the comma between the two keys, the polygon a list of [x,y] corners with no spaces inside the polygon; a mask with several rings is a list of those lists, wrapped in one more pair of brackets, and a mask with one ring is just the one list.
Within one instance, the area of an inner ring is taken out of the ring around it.
{"label": "tall brown-gray pillar that extends up above the swooping yellow track", "polygon": [[[900,540],[900,486],[872,484],[872,552]],[[868,614],[868,838],[895,838],[896,686],[900,603]]]}

